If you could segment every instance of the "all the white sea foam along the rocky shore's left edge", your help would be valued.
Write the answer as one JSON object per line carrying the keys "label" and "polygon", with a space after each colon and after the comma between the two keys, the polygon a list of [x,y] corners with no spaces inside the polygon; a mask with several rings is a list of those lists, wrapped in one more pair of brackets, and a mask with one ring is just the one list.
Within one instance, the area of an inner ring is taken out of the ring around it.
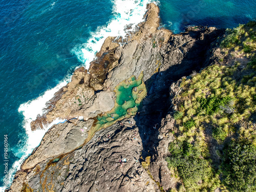
{"label": "all the white sea foam along the rocky shore's left edge", "polygon": [[[95,54],[100,50],[104,40],[108,36],[122,36],[129,31],[134,31],[138,23],[143,22],[143,16],[146,11],[146,5],[150,3],[150,0],[113,0],[113,12],[114,18],[110,20],[107,26],[98,27],[97,30],[91,33],[91,38],[85,42],[83,45],[76,46],[71,52],[75,53],[78,59],[84,63],[84,66],[88,69],[90,66],[90,61],[95,58]],[[52,4],[51,6],[54,6]],[[129,25],[130,29],[125,27]],[[14,174],[20,168],[23,161],[32,153],[35,147],[40,144],[42,137],[50,129],[53,124],[58,124],[60,122],[66,121],[65,119],[56,119],[49,125],[45,125],[43,130],[31,131],[30,123],[36,119],[36,116],[42,115],[44,113],[44,108],[46,107],[46,102],[49,101],[60,88],[66,86],[70,82],[71,77],[66,80],[62,80],[55,88],[47,90],[44,94],[38,98],[23,103],[19,106],[18,111],[24,115],[23,126],[28,135],[26,146],[22,149],[24,154],[18,161],[16,161],[11,169],[9,170],[9,186],[13,180]],[[82,117],[78,117],[82,119]],[[87,127],[84,127],[86,130]],[[0,191],[4,191],[6,187],[0,187]]]}

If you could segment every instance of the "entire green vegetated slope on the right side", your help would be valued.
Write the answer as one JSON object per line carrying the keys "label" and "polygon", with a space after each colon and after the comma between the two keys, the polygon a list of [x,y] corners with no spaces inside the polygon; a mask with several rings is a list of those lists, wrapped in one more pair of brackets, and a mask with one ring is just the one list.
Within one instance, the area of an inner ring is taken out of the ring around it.
{"label": "entire green vegetated slope on the right side", "polygon": [[227,29],[212,65],[176,83],[170,191],[256,191],[256,22]]}

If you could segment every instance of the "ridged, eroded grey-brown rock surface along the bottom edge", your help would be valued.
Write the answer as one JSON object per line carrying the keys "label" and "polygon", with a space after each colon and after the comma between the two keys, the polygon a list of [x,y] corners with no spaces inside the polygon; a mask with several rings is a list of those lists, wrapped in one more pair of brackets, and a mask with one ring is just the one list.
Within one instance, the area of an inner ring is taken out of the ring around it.
{"label": "ridged, eroded grey-brown rock surface along the bottom edge", "polygon": [[[48,158],[29,172],[18,172],[17,178],[26,178],[27,185],[36,191],[160,191],[140,164],[142,141],[136,122],[128,119],[122,123],[97,132],[72,153]],[[120,167],[122,158],[126,162]],[[9,191],[20,191],[22,187],[15,179]]]}

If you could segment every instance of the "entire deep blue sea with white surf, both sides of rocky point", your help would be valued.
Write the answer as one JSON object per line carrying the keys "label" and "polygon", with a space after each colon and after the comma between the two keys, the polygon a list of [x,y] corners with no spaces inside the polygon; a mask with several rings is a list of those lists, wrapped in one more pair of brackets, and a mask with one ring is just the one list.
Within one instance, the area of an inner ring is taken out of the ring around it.
{"label": "entire deep blue sea with white surf, both sides of rocky point", "polygon": [[[0,191],[46,130],[30,131],[45,102],[90,61],[107,36],[143,20],[150,0],[0,0]],[[160,0],[161,26],[175,33],[187,25],[233,28],[256,18],[255,0]],[[57,122],[63,120],[58,119]],[[8,135],[8,161],[4,161]]]}

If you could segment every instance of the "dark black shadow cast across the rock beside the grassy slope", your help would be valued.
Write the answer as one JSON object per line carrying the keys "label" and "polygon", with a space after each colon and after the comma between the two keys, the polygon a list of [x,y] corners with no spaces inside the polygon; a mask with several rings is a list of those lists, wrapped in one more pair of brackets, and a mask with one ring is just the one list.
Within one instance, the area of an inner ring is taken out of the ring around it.
{"label": "dark black shadow cast across the rock beside the grassy slope", "polygon": [[[214,33],[204,33],[204,39],[200,40],[200,32],[190,31],[189,35],[196,39],[195,44],[184,54],[184,58],[177,65],[170,66],[168,62],[162,65],[169,65],[165,71],[155,73],[146,80],[147,96],[143,100],[143,108],[134,117],[139,128],[142,139],[142,158],[147,156],[157,156],[158,135],[162,118],[165,118],[170,107],[171,84],[183,76],[190,75],[193,71],[199,71],[209,64],[207,56],[211,42],[215,41],[219,35],[224,34],[223,30]],[[173,46],[173,38],[169,40],[169,46]],[[172,54],[171,52],[168,54]]]}

